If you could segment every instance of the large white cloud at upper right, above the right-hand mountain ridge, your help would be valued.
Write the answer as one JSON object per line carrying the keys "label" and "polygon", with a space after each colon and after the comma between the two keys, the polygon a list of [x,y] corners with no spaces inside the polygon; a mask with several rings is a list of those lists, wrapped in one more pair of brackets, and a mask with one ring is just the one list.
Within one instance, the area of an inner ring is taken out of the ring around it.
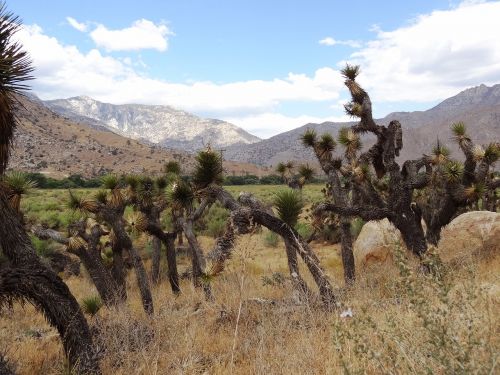
{"label": "large white cloud at upper right, above the right-hand mountain ridge", "polygon": [[352,55],[375,101],[428,102],[500,82],[500,2],[422,15]]}

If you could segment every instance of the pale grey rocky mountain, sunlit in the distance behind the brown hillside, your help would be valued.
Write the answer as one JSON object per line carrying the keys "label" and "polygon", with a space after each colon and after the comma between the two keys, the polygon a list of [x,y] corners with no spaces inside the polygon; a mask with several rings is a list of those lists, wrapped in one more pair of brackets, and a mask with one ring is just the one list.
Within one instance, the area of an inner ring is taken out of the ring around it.
{"label": "pale grey rocky mountain, sunlit in the distance behind the brown hillside", "polygon": [[210,143],[216,148],[258,142],[236,125],[204,119],[163,105],[102,103],[88,96],[44,101],[52,111],[92,127],[105,127],[133,139],[194,152]]}

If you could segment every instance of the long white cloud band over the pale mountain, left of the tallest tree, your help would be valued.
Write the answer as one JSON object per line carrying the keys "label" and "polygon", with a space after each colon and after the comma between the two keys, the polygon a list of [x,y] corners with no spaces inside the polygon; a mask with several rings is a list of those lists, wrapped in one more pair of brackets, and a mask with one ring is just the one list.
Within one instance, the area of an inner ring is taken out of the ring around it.
{"label": "long white cloud band over the pale mountain, left of the tallest tree", "polygon": [[36,25],[25,26],[18,38],[34,60],[34,88],[44,99],[85,94],[116,104],[168,104],[222,117],[269,112],[282,102],[328,102],[337,99],[343,87],[340,74],[332,68],[273,80],[173,83],[139,74],[130,59],[63,45]]}

